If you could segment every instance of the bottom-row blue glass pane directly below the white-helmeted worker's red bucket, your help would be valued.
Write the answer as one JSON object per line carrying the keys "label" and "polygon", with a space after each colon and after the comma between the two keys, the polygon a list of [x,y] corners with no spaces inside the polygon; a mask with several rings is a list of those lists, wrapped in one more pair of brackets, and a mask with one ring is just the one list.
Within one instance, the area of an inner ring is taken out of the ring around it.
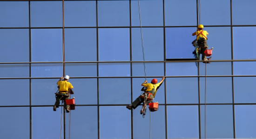
{"label": "bottom-row blue glass pane directly below the white-helmeted worker's red bucket", "polygon": [[96,106],[76,106],[74,111],[66,114],[66,138],[69,137],[69,117],[71,117],[70,139],[98,139]]}

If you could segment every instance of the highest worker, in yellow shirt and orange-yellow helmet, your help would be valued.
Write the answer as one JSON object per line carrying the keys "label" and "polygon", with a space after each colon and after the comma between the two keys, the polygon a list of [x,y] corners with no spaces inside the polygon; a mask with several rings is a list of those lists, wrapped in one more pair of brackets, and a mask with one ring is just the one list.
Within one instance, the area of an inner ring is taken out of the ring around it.
{"label": "highest worker, in yellow shirt and orange-yellow helmet", "polygon": [[202,54],[202,60],[207,61],[208,59],[205,57],[204,51],[208,48],[206,40],[209,33],[203,30],[203,25],[198,25],[197,31],[192,33],[192,36],[195,35],[196,39],[192,42],[192,44],[195,46],[197,42],[197,45],[200,48],[200,53]]}

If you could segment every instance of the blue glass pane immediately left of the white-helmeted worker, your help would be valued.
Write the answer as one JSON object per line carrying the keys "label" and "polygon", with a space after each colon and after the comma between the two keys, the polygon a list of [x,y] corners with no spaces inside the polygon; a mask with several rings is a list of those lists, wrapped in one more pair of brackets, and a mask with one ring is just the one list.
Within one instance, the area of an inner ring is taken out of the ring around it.
{"label": "blue glass pane immediately left of the white-helmeted worker", "polygon": [[54,105],[58,81],[59,79],[31,79],[31,104]]}

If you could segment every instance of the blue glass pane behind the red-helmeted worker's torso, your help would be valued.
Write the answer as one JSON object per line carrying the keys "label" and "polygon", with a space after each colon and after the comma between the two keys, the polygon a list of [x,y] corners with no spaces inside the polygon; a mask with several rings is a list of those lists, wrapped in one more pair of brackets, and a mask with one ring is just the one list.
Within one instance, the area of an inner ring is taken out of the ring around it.
{"label": "blue glass pane behind the red-helmeted worker's torso", "polygon": [[[148,82],[151,82],[153,78],[147,78]],[[162,80],[162,78],[156,78],[158,80],[158,82],[160,82]],[[139,97],[142,93],[141,91],[141,83],[143,83],[145,81],[145,78],[133,78],[133,101]],[[158,101],[159,103],[163,104],[164,103],[164,82],[162,83],[161,87],[157,90],[156,95],[154,100]],[[130,103],[130,102],[129,102]]]}

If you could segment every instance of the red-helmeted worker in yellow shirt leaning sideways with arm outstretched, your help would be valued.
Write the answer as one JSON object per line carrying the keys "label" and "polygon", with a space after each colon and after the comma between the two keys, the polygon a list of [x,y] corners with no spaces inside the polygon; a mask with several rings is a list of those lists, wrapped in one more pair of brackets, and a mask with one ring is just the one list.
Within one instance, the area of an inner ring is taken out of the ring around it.
{"label": "red-helmeted worker in yellow shirt leaning sideways with arm outstretched", "polygon": [[[151,81],[151,83],[147,83],[148,81],[145,81],[141,84],[141,86],[145,87],[146,89],[144,90],[145,92],[142,94],[142,96],[147,95],[149,99],[154,99],[155,98],[155,94],[156,91],[158,90],[158,88],[161,86],[162,82],[164,81],[164,77],[162,77],[162,80],[160,82],[157,83],[157,79],[153,79]],[[126,108],[130,109],[135,109],[136,107],[138,107],[141,103],[143,102],[142,105],[142,109],[141,109],[141,114],[143,114],[143,110],[146,107],[147,104],[144,103],[144,98],[142,98],[141,96],[139,96],[135,101],[133,101],[132,105],[128,105],[126,106]]]}

